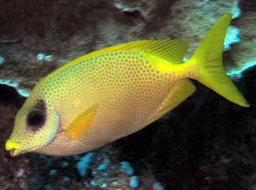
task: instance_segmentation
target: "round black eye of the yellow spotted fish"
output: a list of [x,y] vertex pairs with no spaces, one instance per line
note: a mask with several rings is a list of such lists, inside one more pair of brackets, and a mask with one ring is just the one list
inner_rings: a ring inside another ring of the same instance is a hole
[[33,111],[28,114],[27,124],[30,127],[37,128],[44,124],[44,114],[41,111]]

